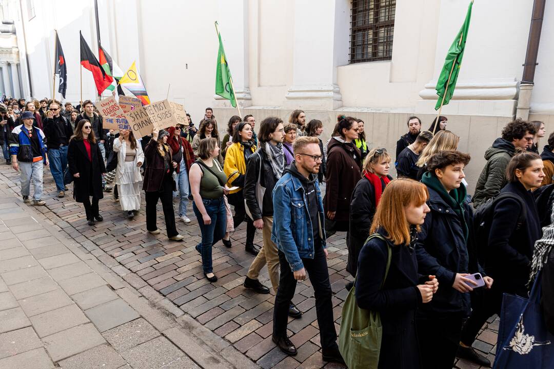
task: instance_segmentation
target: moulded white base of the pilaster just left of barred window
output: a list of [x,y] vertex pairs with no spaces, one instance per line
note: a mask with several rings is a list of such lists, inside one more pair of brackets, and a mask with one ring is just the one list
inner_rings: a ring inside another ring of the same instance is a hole
[[342,96],[336,84],[291,86],[283,106],[305,110],[336,110],[342,106]]

